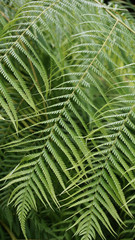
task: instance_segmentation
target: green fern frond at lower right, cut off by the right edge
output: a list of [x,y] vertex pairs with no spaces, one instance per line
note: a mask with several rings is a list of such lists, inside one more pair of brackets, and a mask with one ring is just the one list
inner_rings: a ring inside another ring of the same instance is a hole
[[71,185],[72,200],[67,204],[70,207],[82,205],[82,209],[79,207],[76,213],[79,218],[74,224],[75,226],[79,223],[77,233],[83,235],[82,239],[92,239],[95,230],[101,238],[104,238],[99,222],[113,233],[111,222],[105,212],[109,212],[112,218],[121,223],[115,204],[125,208],[127,214],[134,214],[128,209],[121,181],[125,179],[132,184],[133,189],[135,188],[132,167],[135,164],[134,90],[133,85],[127,86],[127,82],[124,82],[123,86],[119,83],[119,86],[122,91],[127,87],[131,91],[127,94],[126,90],[124,95],[111,100],[97,114],[95,123],[100,127],[93,129],[87,137],[91,151],[84,159],[85,163],[90,158],[93,168],[89,170],[86,163],[87,178],[82,173],[76,179],[79,187],[76,191]]

